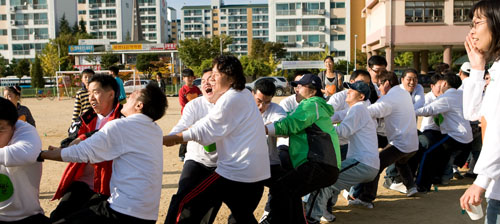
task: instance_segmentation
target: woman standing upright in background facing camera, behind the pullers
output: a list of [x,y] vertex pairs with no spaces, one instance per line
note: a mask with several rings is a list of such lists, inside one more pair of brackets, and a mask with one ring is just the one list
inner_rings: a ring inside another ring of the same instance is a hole
[[333,70],[335,62],[332,56],[326,56],[323,61],[325,62],[326,70],[318,74],[321,79],[321,92],[325,97],[330,97],[342,90],[344,76],[339,71]]

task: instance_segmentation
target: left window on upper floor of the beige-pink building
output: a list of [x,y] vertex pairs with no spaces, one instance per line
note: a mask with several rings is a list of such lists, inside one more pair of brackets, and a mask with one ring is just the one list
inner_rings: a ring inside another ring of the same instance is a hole
[[407,1],[406,23],[442,23],[444,1]]

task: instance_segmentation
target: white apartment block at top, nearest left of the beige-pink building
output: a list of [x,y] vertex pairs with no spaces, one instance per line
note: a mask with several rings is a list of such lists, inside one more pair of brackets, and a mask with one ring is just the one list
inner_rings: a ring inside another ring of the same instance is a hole
[[350,0],[269,0],[269,40],[291,56],[324,52],[351,60]]

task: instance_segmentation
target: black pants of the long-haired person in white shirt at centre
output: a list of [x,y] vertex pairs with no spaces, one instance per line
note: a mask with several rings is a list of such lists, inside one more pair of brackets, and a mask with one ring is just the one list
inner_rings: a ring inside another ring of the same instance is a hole
[[236,182],[213,173],[182,198],[175,223],[200,223],[207,207],[224,202],[236,223],[257,223],[253,212],[264,191],[262,181]]

